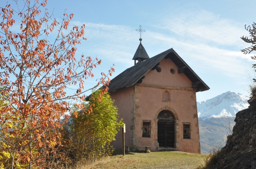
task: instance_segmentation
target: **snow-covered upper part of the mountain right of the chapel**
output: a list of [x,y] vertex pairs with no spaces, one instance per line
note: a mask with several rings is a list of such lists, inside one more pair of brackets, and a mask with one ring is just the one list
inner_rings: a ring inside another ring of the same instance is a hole
[[197,102],[198,117],[201,120],[234,117],[238,111],[248,108],[247,100],[249,97],[243,94],[227,91],[209,100]]

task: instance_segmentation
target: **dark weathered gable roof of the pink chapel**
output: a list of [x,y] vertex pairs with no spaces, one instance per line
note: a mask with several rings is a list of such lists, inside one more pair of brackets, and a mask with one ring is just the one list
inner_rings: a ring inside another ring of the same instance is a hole
[[137,81],[143,79],[143,76],[163,58],[170,58],[178,67],[178,71],[184,73],[191,80],[192,88],[196,88],[196,91],[204,91],[210,89],[187,65],[187,63],[171,48],[137,65],[134,65],[117,75],[110,81],[108,92],[111,93],[124,87],[133,86]]

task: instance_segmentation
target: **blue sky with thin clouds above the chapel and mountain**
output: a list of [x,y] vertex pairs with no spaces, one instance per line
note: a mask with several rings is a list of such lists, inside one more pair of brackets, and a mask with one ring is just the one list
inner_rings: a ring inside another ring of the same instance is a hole
[[[0,6],[6,2],[1,0]],[[87,80],[88,87],[112,64],[113,77],[134,65],[132,58],[140,43],[135,29],[142,25],[146,30],[142,44],[149,57],[173,48],[210,87],[197,93],[197,101],[229,90],[247,94],[246,71],[253,74],[251,65],[255,62],[240,51],[249,46],[240,37],[248,35],[245,24],[256,22],[254,6],[252,0],[47,2],[49,13],[53,11],[57,19],[67,9],[66,13],[74,14],[71,24],[86,25],[87,41],[77,46],[76,54],[102,60],[95,78]]]

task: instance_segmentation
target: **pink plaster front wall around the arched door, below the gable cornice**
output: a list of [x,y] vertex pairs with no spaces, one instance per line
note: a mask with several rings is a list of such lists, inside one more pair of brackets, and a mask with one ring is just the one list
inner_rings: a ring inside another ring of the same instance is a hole
[[[155,118],[161,108],[168,106],[176,112],[178,120],[180,120],[176,134],[177,142],[180,143],[180,147],[176,147],[177,150],[200,153],[195,91],[169,90],[171,102],[163,102],[164,89],[144,86],[137,86],[137,88],[140,90],[140,93],[136,93],[136,98],[139,98],[140,101],[136,103],[139,105],[139,109],[137,109],[136,112],[137,117],[135,118],[135,122],[138,124],[138,127],[135,125],[135,133],[137,134],[134,139],[136,140],[136,145],[151,146],[151,150],[156,150],[155,141],[157,128]],[[141,135],[141,123],[143,120],[151,120],[151,130],[153,131],[151,138],[143,138]],[[191,139],[182,139],[183,122],[190,123]]]

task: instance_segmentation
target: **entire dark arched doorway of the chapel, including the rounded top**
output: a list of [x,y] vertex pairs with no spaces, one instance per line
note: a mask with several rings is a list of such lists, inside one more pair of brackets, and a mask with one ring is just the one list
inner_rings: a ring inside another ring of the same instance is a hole
[[159,147],[174,147],[175,117],[173,113],[168,110],[162,110],[157,119],[157,142]]

